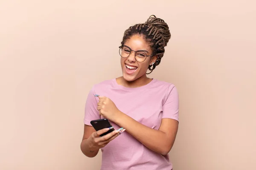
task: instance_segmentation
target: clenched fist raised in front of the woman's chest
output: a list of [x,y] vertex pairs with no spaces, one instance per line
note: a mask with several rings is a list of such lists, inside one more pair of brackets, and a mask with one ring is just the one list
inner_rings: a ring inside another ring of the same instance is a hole
[[117,115],[120,113],[114,102],[108,97],[99,96],[99,102],[97,105],[97,110],[99,111],[99,114],[112,122],[114,122],[114,118],[116,118]]

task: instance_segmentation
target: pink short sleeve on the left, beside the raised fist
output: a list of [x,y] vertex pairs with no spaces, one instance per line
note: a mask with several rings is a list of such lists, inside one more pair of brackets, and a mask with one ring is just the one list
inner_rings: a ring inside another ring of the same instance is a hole
[[97,110],[98,102],[94,94],[95,91],[94,88],[92,88],[89,91],[84,108],[84,124],[89,126],[91,126],[90,121],[100,119],[99,111]]

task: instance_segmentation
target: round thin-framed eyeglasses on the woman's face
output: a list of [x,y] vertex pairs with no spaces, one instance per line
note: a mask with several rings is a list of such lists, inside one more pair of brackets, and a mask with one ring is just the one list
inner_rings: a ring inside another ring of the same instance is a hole
[[[131,51],[134,51],[134,50],[131,50],[131,48],[129,48],[127,46],[121,45],[119,47],[119,54],[123,58],[129,57],[130,54],[131,54]],[[143,61],[145,61],[145,59],[147,57],[153,56],[153,54],[152,55],[147,55],[144,50],[138,50],[138,51],[134,51],[134,52],[135,52],[135,54],[134,54],[135,59],[136,59],[137,62],[143,62]]]

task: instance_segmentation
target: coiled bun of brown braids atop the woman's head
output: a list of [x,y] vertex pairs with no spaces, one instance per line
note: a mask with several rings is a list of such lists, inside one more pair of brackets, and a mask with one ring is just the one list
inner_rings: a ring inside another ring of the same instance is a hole
[[151,15],[148,20],[145,22],[145,24],[148,24],[150,26],[154,26],[157,28],[157,31],[162,35],[162,38],[164,40],[164,46],[167,45],[171,38],[171,33],[169,30],[169,27],[167,23],[164,22],[161,18],[157,18],[155,15]]

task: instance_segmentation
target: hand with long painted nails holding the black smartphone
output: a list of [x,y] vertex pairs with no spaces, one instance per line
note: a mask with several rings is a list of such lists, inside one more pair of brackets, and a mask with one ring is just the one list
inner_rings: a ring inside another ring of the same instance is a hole
[[110,130],[110,128],[104,128],[93,132],[89,137],[89,147],[93,150],[99,150],[100,148],[105,147],[109,142],[111,142],[113,139],[115,139],[117,136],[125,131],[125,129],[114,130],[111,133],[100,136],[101,134],[108,132],[108,130]]

